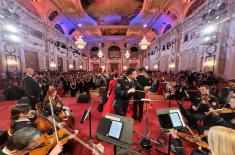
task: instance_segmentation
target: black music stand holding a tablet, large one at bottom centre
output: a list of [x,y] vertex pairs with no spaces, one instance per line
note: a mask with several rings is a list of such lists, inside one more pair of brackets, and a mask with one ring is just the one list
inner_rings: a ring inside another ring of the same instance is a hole
[[[119,139],[108,136],[112,121],[118,121],[123,124],[122,132]],[[129,149],[129,147],[131,146],[133,125],[134,125],[134,120],[131,118],[126,118],[124,116],[108,113],[105,117],[101,118],[99,125],[97,127],[96,137],[100,140],[104,140],[108,143],[113,144],[114,155],[116,155],[117,146],[124,149]]]

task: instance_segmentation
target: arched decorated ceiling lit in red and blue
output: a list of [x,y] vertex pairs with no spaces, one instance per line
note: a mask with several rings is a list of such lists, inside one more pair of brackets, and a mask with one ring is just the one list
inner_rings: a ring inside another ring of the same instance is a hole
[[193,13],[205,0],[16,0],[65,37],[89,43],[152,42]]

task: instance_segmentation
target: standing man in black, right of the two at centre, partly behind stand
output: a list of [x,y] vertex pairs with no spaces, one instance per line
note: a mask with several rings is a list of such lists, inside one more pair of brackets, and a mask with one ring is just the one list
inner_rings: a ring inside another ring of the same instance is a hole
[[[136,89],[143,91],[143,92],[135,92],[134,93],[134,103],[133,103],[133,110],[134,110],[134,114],[133,114],[133,118],[134,120],[137,120],[139,122],[141,122],[142,117],[143,117],[143,105],[144,102],[140,101],[142,98],[145,98],[145,92],[147,89],[150,89],[151,84],[149,82],[149,78],[145,72],[145,68],[139,68],[138,69],[139,74],[137,76],[137,80],[136,80]],[[139,109],[139,115],[137,114]]]

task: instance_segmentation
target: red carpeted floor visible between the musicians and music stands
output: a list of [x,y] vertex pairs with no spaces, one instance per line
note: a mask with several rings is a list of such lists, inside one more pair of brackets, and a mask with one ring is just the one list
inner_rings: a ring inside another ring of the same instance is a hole
[[[157,97],[155,96],[154,99],[157,99]],[[82,140],[87,142],[89,140],[89,121],[87,119],[84,124],[80,124],[80,120],[82,118],[84,110],[88,108],[89,104],[78,104],[76,102],[77,99],[75,97],[64,97],[62,98],[62,100],[64,104],[68,105],[72,109],[75,119],[76,119],[76,128],[81,129],[81,132],[79,133],[78,137],[80,137]],[[112,155],[113,145],[107,142],[99,141],[95,139],[96,128],[98,126],[99,120],[101,119],[101,113],[99,113],[96,110],[100,98],[92,97],[92,100],[94,101],[95,104],[91,111],[92,113],[92,136],[94,137],[94,139],[92,139],[91,141],[94,143],[101,142],[105,147],[105,154]],[[0,129],[1,130],[7,130],[9,128],[10,109],[14,105],[14,103],[12,103],[11,101],[0,101]],[[160,135],[160,127],[159,127],[159,121],[158,121],[157,114],[156,114],[156,109],[167,108],[168,100],[156,100],[156,101],[153,101],[151,104],[152,104],[152,108],[149,110],[149,129],[151,129],[150,138],[156,140]],[[171,107],[177,107],[177,103],[175,101],[172,101]],[[129,117],[131,116],[131,106],[128,112],[128,116]],[[145,113],[144,113],[144,118],[142,122],[134,123],[134,130],[140,133],[144,132],[144,124],[145,124],[144,119],[145,119]],[[133,142],[136,142],[137,140],[139,140],[139,138],[140,137],[136,133],[133,133]],[[195,145],[189,142],[186,142],[184,140],[182,140],[182,142],[183,142],[183,145],[185,147],[187,154],[190,154],[192,149],[195,148]],[[167,151],[167,146],[158,146],[156,144],[152,144],[152,145],[153,145],[153,148],[151,149],[151,152],[150,152],[151,155],[160,154],[156,151],[157,149],[163,150],[165,152]],[[141,152],[141,154],[143,155],[148,154],[146,150],[144,150],[139,145],[132,145],[130,149]],[[76,144],[73,149],[73,154],[74,155],[87,155],[87,154],[91,154],[91,152],[88,151],[85,147],[82,147],[80,144]]]

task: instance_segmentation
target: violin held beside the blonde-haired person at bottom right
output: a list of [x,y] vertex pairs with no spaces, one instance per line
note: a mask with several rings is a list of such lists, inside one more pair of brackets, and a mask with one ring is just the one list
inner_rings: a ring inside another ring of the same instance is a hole
[[191,143],[194,143],[194,144],[197,144],[198,146],[202,147],[202,148],[206,148],[207,150],[210,150],[209,149],[209,144],[202,141],[201,140],[201,137],[197,136],[196,138],[195,137],[192,137],[192,136],[189,136],[183,132],[177,132],[177,135]]

